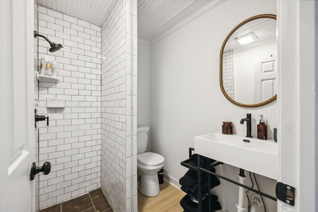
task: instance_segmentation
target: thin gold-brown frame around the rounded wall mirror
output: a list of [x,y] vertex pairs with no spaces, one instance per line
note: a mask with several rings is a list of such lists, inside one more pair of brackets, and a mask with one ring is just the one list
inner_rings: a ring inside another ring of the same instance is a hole
[[243,22],[239,23],[239,25],[237,25],[230,33],[229,35],[225,38],[223,44],[222,44],[222,48],[221,48],[221,52],[220,52],[220,86],[221,86],[221,90],[222,90],[222,93],[224,94],[224,96],[229,100],[231,101],[232,103],[236,104],[236,105],[239,105],[239,106],[242,106],[242,107],[259,107],[259,106],[263,106],[263,105],[266,105],[274,100],[276,100],[277,98],[277,94],[275,94],[275,96],[273,96],[272,98],[264,101],[264,102],[261,102],[261,103],[258,103],[258,104],[251,104],[251,105],[248,105],[248,104],[242,104],[242,103],[239,103],[239,102],[236,102],[234,101],[233,99],[230,98],[230,96],[228,96],[228,94],[226,93],[226,91],[224,90],[224,87],[223,87],[223,50],[224,50],[224,47],[226,45],[226,43],[228,42],[229,38],[231,37],[231,35],[237,30],[239,29],[239,27],[241,27],[243,24],[249,22],[249,21],[252,21],[252,20],[255,20],[255,19],[258,19],[258,18],[273,18],[276,20],[276,15],[273,15],[273,14],[262,14],[262,15],[255,15],[253,17],[250,17],[246,20],[244,20]]

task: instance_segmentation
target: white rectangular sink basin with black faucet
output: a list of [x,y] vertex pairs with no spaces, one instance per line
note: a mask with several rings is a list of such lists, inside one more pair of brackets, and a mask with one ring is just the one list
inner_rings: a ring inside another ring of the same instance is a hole
[[214,160],[275,180],[278,178],[278,144],[274,140],[211,133],[194,137],[194,150]]

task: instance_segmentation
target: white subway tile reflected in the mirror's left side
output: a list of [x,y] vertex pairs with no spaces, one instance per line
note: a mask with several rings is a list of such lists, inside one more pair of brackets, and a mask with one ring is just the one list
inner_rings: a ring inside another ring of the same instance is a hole
[[234,70],[233,50],[223,53],[223,87],[228,96],[235,100],[234,96]]

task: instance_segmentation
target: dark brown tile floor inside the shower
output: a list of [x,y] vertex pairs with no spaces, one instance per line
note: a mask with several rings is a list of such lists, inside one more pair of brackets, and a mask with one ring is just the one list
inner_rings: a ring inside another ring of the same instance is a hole
[[40,212],[113,212],[103,191],[96,189],[67,202],[51,206]]

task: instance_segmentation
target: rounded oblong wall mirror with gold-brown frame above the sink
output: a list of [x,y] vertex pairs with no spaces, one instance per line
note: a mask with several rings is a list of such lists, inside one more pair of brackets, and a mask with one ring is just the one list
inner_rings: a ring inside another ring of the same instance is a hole
[[258,107],[276,99],[276,15],[248,18],[223,42],[220,85],[236,105]]

